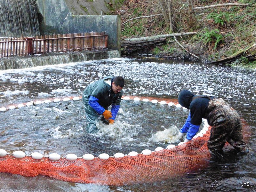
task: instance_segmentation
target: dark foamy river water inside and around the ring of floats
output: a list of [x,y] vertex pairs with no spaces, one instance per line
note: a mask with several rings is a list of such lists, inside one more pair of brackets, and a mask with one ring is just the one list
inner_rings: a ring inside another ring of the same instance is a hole
[[[254,152],[225,149],[209,165],[161,182],[102,186],[27,178],[0,173],[0,191],[255,191],[256,71],[207,63],[156,58],[116,58],[0,71],[0,107],[48,98],[81,96],[84,88],[104,76],[123,76],[124,95],[177,99],[188,89],[222,97],[243,119],[244,139]],[[99,124],[87,134],[82,102],[43,103],[1,112],[0,148],[12,153],[44,155],[74,153],[98,156],[154,151],[178,144],[176,135],[188,111],[168,105],[122,100],[116,123]]]

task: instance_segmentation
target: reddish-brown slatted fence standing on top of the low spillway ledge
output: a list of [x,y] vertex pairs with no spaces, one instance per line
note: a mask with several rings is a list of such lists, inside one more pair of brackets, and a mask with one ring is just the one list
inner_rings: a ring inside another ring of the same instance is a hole
[[74,52],[107,48],[106,32],[56,34],[0,39],[0,57],[28,56],[52,52]]

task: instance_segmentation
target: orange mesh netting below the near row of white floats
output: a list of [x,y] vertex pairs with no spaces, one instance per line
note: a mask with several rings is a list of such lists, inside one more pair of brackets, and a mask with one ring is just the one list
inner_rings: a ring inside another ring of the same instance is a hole
[[73,162],[61,158],[51,161],[31,157],[0,157],[0,172],[28,177],[45,175],[55,179],[102,185],[130,185],[168,179],[172,176],[193,172],[207,165],[210,152],[207,147],[209,131],[188,143],[171,149],[152,152],[150,155],[110,157],[107,160],[94,158],[86,161],[78,158]]

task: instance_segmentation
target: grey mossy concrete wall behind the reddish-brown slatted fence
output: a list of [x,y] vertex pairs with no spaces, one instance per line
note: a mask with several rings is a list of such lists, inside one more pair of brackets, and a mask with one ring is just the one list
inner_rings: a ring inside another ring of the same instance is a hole
[[[100,3],[101,2],[101,3]],[[104,6],[103,6],[104,2]],[[75,15],[78,7],[81,9],[87,6],[88,13],[98,6],[99,10],[107,10],[111,0],[100,1],[65,1],[65,0],[37,0],[37,12],[42,15],[42,22],[39,23],[40,34],[65,34],[65,33],[83,33],[83,32],[100,32],[106,31],[108,35],[108,48],[121,52],[120,16],[116,15]],[[83,4],[82,4],[83,3]],[[81,6],[80,6],[81,5]],[[105,8],[106,9],[105,9]],[[104,8],[104,9],[103,9]],[[76,12],[74,13],[74,9]],[[104,12],[105,12],[104,11]],[[101,12],[101,11],[100,11]],[[82,14],[82,12],[79,12]]]

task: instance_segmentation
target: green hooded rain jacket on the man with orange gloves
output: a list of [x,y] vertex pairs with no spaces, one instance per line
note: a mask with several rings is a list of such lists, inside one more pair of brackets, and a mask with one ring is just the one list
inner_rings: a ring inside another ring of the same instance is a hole
[[100,106],[107,109],[110,105],[120,105],[123,90],[114,93],[111,89],[114,77],[107,76],[90,84],[83,93],[84,105],[89,105],[89,98],[93,96],[98,100]]

